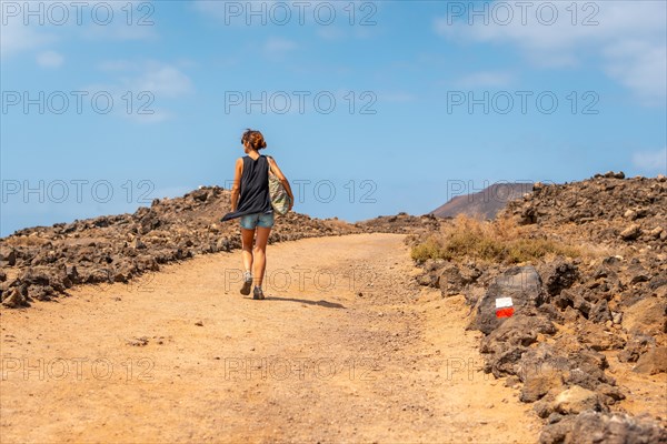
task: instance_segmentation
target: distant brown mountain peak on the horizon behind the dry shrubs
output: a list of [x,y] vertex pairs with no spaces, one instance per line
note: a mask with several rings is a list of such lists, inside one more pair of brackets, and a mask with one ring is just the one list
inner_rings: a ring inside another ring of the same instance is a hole
[[477,193],[457,195],[429,214],[455,218],[466,214],[478,219],[494,219],[507,202],[520,199],[532,191],[532,183],[496,183]]

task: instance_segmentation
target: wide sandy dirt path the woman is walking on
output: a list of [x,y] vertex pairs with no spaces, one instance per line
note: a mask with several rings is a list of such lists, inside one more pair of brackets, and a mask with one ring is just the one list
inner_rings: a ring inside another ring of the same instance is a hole
[[270,245],[266,301],[235,252],[2,311],[0,442],[535,442],[402,239]]

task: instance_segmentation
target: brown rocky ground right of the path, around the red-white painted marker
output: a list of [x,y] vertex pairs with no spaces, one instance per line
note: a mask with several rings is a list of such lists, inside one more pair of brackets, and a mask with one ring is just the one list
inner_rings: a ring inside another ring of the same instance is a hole
[[[545,421],[540,443],[666,443],[667,417],[624,412],[621,401],[638,393],[609,372],[643,375],[664,412],[666,380],[651,377],[667,372],[665,176],[536,183],[501,216],[583,254],[512,266],[429,260],[420,283],[466,295],[469,329],[485,334],[485,371],[520,387]],[[500,297],[511,297],[512,316],[497,316]]]

